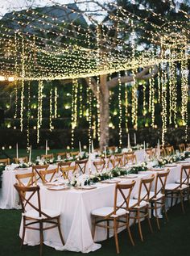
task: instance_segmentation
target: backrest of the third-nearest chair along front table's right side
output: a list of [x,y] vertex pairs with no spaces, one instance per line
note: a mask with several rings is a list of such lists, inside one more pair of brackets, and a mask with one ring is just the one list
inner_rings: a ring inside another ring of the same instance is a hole
[[158,172],[155,176],[155,195],[156,197],[159,193],[165,195],[165,187],[167,183],[167,176],[170,173],[170,170]]

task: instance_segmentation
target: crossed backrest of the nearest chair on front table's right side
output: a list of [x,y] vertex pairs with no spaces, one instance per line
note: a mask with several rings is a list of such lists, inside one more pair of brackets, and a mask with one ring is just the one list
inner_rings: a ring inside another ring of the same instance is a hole
[[[117,214],[117,211],[120,208],[126,208],[126,211],[128,211],[130,194],[134,188],[135,183],[136,182],[132,180],[130,183],[116,184],[115,193],[114,193],[114,212],[112,212],[112,214]],[[119,205],[118,205],[118,195],[122,196],[122,199],[119,199],[120,201]]]

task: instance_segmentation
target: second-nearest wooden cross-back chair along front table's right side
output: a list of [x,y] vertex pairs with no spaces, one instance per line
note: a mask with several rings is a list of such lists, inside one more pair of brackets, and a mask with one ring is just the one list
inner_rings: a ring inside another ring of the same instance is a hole
[[141,241],[143,241],[141,227],[142,218],[147,218],[151,233],[153,232],[149,216],[149,198],[154,178],[154,174],[152,174],[150,178],[142,178],[138,189],[138,195],[134,196],[134,199],[130,199],[129,210],[130,212],[134,212],[134,216],[130,216],[130,219],[134,219],[134,224],[138,221],[138,233]]

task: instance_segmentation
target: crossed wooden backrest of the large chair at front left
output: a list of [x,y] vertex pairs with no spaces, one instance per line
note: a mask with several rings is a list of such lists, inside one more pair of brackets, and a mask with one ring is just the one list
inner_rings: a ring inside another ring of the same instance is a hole
[[[23,187],[19,186],[18,184],[14,184],[15,189],[19,193],[19,199],[22,205],[22,211],[27,212],[27,206],[33,208],[36,212],[38,212],[39,217],[45,216],[46,218],[50,218],[45,212],[41,210],[41,202],[40,202],[40,195],[39,195],[39,186],[35,187]],[[28,192],[28,193],[27,193]],[[37,196],[37,199],[36,199]],[[36,204],[31,203],[31,200],[35,198]]]

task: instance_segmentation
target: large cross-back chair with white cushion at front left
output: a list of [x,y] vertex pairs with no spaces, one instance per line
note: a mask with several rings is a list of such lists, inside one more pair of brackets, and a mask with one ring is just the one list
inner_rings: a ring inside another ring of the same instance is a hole
[[[14,184],[14,187],[19,193],[19,199],[22,205],[23,212],[23,234],[21,248],[23,246],[26,229],[33,229],[39,231],[40,256],[42,255],[43,249],[43,231],[47,229],[58,228],[60,240],[64,246],[64,238],[60,229],[60,212],[56,212],[52,209],[41,208],[39,186],[23,187],[19,186],[18,184]],[[35,204],[33,203],[33,201],[35,202]],[[27,210],[28,208],[30,209]]]

